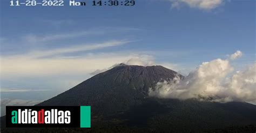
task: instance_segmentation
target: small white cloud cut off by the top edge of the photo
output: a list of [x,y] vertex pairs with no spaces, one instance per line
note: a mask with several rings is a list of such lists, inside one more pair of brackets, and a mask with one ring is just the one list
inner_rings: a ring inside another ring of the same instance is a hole
[[224,3],[224,0],[170,0],[172,8],[179,8],[180,4],[187,4],[191,8],[203,10],[215,9]]

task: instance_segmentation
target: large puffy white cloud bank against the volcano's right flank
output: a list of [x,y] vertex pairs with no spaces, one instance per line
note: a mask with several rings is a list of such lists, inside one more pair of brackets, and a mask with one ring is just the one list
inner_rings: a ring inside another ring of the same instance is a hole
[[[234,60],[241,54],[237,51],[230,59]],[[256,63],[232,75],[233,70],[230,60],[218,58],[204,62],[183,80],[177,76],[172,81],[157,83],[156,88],[150,88],[149,95],[215,102],[256,101]]]

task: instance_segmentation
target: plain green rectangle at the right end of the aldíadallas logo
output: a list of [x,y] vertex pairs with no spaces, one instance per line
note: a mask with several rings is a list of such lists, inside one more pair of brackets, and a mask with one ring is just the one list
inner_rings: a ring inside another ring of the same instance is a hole
[[91,128],[91,106],[80,106],[80,128]]

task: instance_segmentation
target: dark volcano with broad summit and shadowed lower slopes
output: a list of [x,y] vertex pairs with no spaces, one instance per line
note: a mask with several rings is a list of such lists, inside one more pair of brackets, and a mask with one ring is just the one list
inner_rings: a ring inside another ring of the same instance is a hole
[[36,106],[91,106],[92,128],[70,132],[256,131],[256,106],[246,102],[149,96],[149,88],[176,76],[183,79],[160,65],[119,64]]

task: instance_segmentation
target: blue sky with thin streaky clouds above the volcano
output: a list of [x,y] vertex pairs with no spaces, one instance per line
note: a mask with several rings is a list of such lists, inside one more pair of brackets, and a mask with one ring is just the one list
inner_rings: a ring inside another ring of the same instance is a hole
[[255,62],[253,0],[65,2],[52,8],[1,1],[2,98],[46,100],[130,58],[185,74],[237,50],[243,56],[236,67]]

